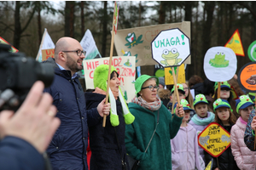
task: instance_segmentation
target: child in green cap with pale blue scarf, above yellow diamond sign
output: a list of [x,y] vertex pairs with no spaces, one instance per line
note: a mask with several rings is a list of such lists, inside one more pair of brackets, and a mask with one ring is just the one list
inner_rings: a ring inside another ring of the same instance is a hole
[[[211,122],[214,122],[214,113],[208,111],[208,101],[204,94],[197,94],[194,99],[194,108],[195,108],[195,115],[189,121],[197,134],[201,133]],[[206,158],[207,152],[205,152],[199,145],[200,155],[205,161],[206,165],[208,164],[208,160]],[[208,155],[207,155],[208,156]]]

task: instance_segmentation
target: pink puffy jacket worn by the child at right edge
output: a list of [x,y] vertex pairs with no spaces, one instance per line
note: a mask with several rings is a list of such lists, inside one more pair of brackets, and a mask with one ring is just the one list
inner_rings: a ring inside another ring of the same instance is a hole
[[244,143],[243,136],[246,126],[241,122],[241,117],[239,117],[236,124],[231,128],[231,150],[237,167],[241,170],[252,170],[255,169],[256,151],[249,150]]

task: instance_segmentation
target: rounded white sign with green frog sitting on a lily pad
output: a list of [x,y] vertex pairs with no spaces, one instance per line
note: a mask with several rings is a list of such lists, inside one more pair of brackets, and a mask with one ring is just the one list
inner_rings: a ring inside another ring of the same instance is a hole
[[236,74],[236,54],[230,48],[213,47],[207,50],[204,58],[204,71],[212,82],[230,80]]

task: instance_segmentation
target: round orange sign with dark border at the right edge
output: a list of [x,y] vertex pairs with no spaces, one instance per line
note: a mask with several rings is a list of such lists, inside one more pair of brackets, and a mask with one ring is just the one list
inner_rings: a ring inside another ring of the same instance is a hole
[[243,65],[237,75],[237,81],[241,88],[248,92],[256,92],[256,62]]

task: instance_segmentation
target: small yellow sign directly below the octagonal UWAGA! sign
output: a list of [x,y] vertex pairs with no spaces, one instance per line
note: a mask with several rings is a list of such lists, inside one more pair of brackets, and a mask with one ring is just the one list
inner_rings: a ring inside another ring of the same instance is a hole
[[[178,76],[177,76],[177,83],[185,83],[186,82],[186,77],[185,77],[184,64],[179,66],[178,73],[177,73],[177,67],[174,67],[174,71],[175,71],[175,75],[178,74]],[[165,68],[165,77],[166,77],[165,78],[166,85],[174,84],[171,67]]]

